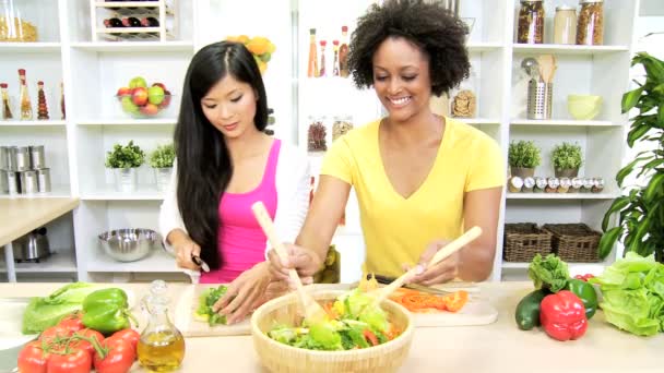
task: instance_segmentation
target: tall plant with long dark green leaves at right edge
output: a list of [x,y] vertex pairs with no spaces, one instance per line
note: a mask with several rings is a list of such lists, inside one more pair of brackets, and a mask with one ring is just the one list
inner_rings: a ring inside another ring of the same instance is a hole
[[[622,96],[622,113],[632,108],[639,113],[631,118],[627,144],[654,143],[652,149],[640,152],[618,171],[616,181],[626,195],[617,197],[602,221],[604,234],[600,240],[600,257],[606,257],[616,242],[625,245],[625,253],[641,256],[654,254],[664,262],[664,62],[648,55],[637,53],[632,65],[645,70],[645,82]],[[645,185],[624,186],[625,178],[649,178]],[[610,217],[618,214],[617,227],[608,228]]]

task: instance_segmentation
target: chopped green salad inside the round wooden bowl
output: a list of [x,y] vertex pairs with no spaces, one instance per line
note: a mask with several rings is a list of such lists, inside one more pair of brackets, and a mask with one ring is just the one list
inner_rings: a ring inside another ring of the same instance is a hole
[[340,296],[323,308],[330,316],[301,326],[276,325],[268,336],[278,342],[309,350],[353,350],[384,344],[401,334],[374,298],[358,289]]

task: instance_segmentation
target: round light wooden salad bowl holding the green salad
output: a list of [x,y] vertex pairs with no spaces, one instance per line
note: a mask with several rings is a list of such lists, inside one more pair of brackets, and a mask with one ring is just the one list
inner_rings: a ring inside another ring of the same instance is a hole
[[[312,293],[317,300],[334,300],[342,290]],[[400,304],[386,300],[381,304],[392,324],[403,333],[376,347],[348,351],[318,351],[296,348],[271,339],[266,333],[275,324],[299,325],[303,316],[297,296],[273,299],[251,316],[253,347],[261,363],[272,372],[394,372],[404,362],[413,340],[413,318]]]

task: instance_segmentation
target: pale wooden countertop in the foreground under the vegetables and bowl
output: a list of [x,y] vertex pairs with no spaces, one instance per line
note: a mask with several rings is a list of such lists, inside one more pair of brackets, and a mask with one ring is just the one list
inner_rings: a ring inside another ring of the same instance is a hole
[[[0,284],[1,297],[46,296],[61,284]],[[115,284],[142,297],[147,284]],[[188,285],[169,284],[173,297]],[[664,334],[638,337],[621,332],[598,311],[579,340],[560,342],[544,332],[519,330],[513,311],[531,282],[487,282],[482,294],[499,311],[483,326],[422,327],[400,372],[662,372]],[[173,316],[173,310],[170,310]],[[264,372],[251,336],[187,338],[180,372]],[[140,369],[137,371],[141,371]]]

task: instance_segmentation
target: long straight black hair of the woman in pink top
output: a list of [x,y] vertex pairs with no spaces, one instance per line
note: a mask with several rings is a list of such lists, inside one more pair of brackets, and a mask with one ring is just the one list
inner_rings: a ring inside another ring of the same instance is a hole
[[239,43],[221,41],[199,50],[189,64],[175,146],[178,160],[178,207],[189,237],[201,246],[201,258],[218,268],[218,206],[233,175],[223,134],[201,107],[201,99],[226,75],[249,84],[258,98],[253,123],[259,131],[268,124],[268,98],[258,64]]

